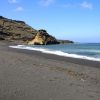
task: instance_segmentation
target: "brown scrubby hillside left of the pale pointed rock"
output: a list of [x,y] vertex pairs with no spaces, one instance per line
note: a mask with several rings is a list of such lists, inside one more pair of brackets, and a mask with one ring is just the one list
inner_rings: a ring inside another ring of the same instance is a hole
[[0,16],[0,40],[31,40],[37,30],[33,29],[23,21],[7,19]]

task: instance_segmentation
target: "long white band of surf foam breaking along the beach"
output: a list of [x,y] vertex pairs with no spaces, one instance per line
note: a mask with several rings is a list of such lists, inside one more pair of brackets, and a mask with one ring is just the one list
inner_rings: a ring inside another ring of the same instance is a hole
[[100,58],[82,56],[82,55],[77,55],[77,54],[69,54],[69,53],[65,53],[62,51],[56,51],[56,50],[52,51],[49,49],[43,49],[43,48],[38,48],[38,47],[30,47],[30,46],[25,46],[25,45],[17,45],[17,46],[9,46],[9,47],[17,48],[17,49],[27,49],[27,50],[40,51],[42,53],[54,54],[54,55],[64,56],[64,57],[87,59],[87,60],[91,60],[91,61],[100,61]]

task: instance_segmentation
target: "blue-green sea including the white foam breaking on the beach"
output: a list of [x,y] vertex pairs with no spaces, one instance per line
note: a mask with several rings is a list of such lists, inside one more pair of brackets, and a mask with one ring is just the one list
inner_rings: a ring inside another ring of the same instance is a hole
[[40,51],[64,57],[100,61],[100,43],[75,43],[59,45],[17,45],[12,48]]

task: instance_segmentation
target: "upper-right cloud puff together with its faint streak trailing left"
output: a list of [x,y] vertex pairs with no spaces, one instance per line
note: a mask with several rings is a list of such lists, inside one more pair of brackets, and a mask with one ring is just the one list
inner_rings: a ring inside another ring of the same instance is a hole
[[89,2],[81,2],[81,3],[68,3],[63,5],[65,8],[85,8],[85,9],[92,9],[93,4]]

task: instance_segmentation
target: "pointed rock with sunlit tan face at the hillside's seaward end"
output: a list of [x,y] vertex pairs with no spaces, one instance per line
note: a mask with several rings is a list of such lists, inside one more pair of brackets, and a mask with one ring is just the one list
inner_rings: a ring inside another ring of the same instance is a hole
[[59,44],[59,42],[51,35],[49,35],[46,30],[39,30],[35,38],[28,44],[34,45],[47,45],[47,44]]

